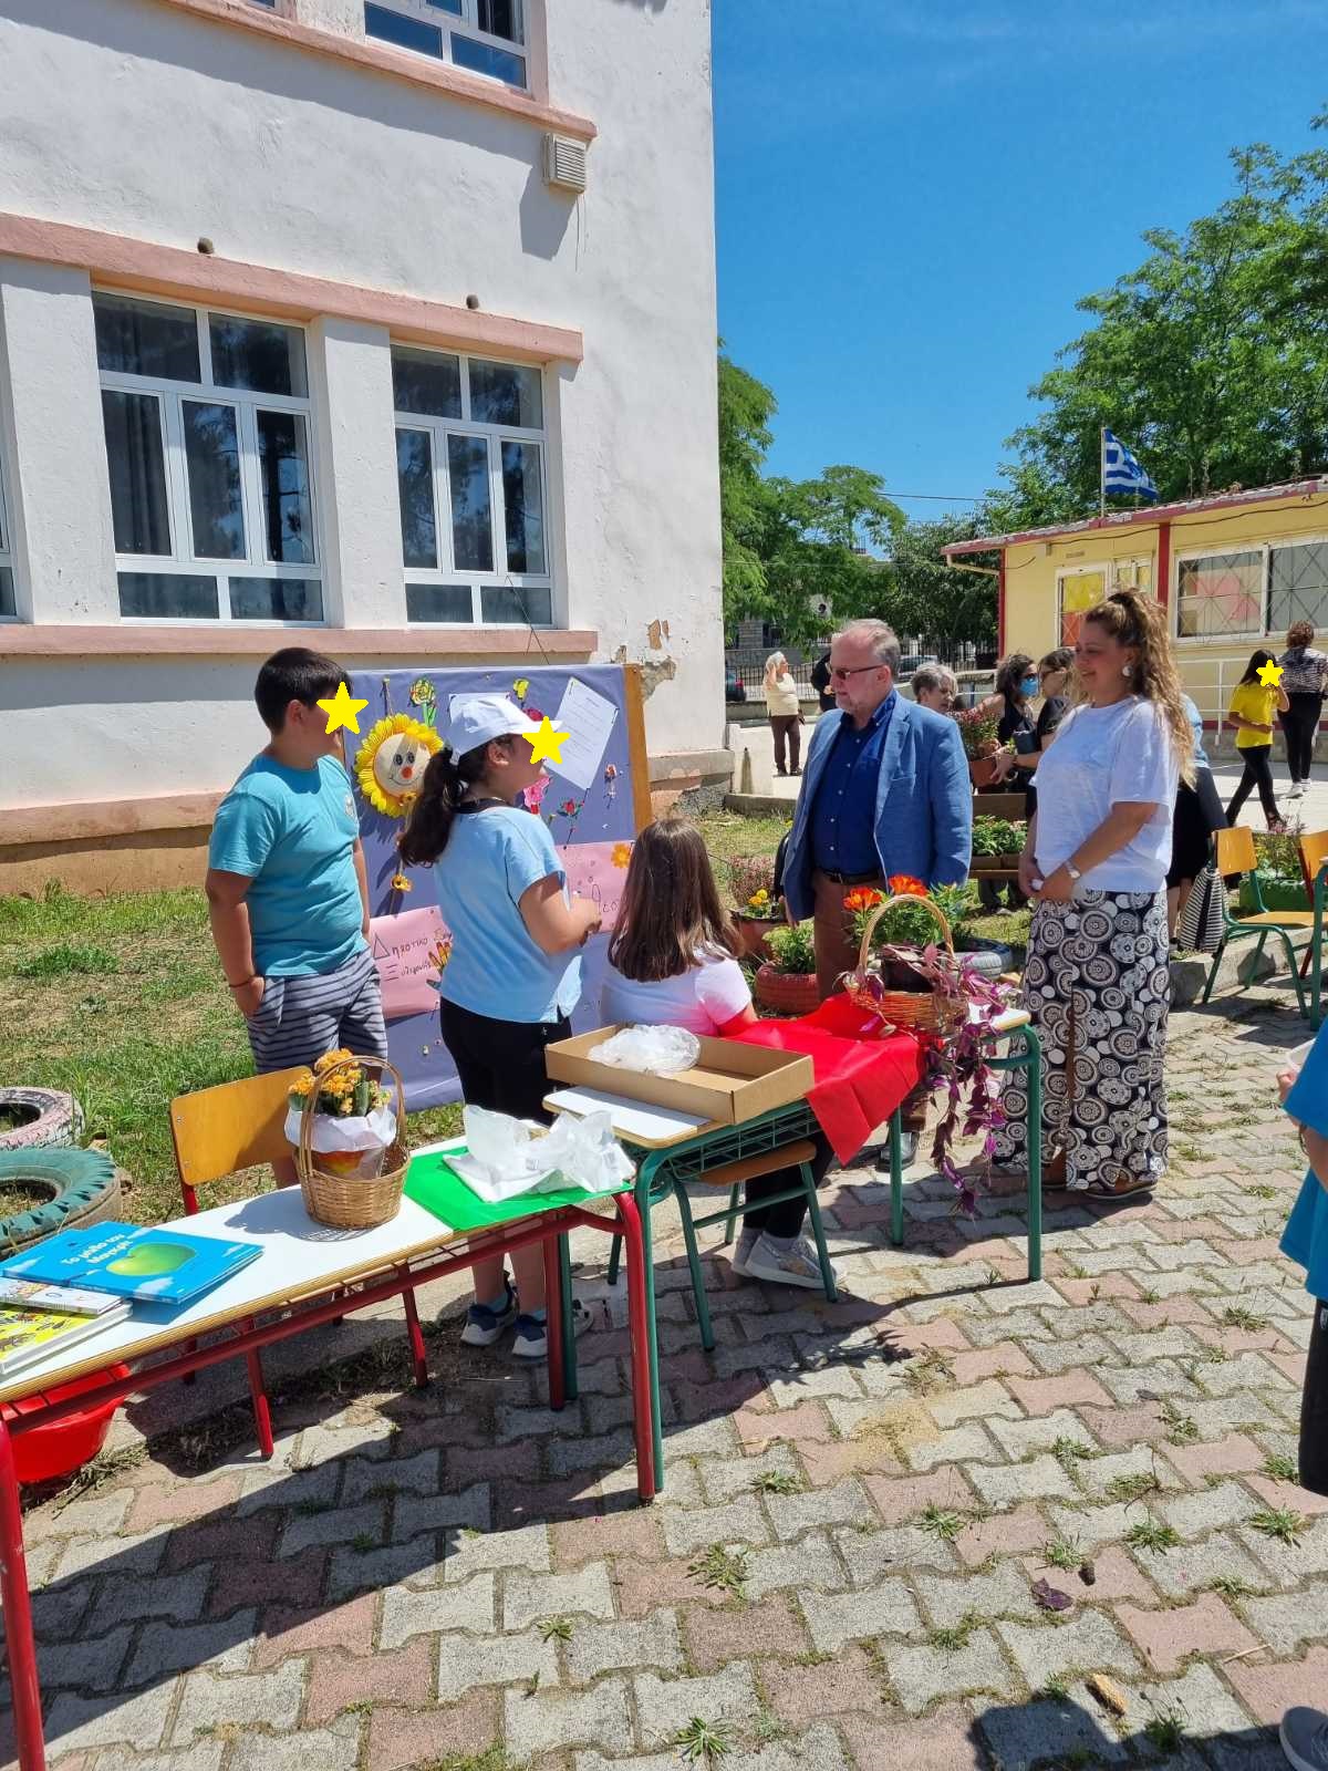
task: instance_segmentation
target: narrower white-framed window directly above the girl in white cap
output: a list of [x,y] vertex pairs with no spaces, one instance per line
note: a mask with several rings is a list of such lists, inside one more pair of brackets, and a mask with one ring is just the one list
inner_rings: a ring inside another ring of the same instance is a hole
[[411,622],[552,623],[540,370],[393,345]]

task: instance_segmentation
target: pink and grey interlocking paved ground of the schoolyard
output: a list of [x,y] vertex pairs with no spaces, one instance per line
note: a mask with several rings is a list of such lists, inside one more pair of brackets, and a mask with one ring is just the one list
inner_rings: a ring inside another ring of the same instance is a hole
[[[182,1475],[177,1435],[35,1507],[53,1766],[666,1771],[694,1718],[726,1771],[1280,1766],[1282,1707],[1328,1693],[1328,1502],[1287,1481],[1287,1001],[1174,1018],[1170,1176],[1121,1210],[1057,1195],[1038,1286],[1018,1194],[956,1222],[914,1171],[892,1250],[852,1171],[827,1188],[843,1300],[708,1259],[705,1355],[660,1215],[650,1509],[622,1298],[561,1417],[448,1323],[425,1394],[292,1383],[271,1465],[244,1442]],[[602,1247],[577,1249],[590,1296]]]

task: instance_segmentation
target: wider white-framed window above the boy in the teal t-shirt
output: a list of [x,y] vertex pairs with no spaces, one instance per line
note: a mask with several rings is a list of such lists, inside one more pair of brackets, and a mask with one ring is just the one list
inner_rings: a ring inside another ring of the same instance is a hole
[[94,292],[120,615],[320,622],[305,333]]

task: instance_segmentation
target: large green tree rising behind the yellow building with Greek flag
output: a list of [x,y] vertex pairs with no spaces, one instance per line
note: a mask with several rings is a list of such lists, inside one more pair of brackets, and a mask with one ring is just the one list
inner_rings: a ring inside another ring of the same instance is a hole
[[[1328,128],[1328,113],[1314,119]],[[1000,528],[1073,521],[1098,501],[1100,427],[1135,450],[1167,498],[1268,485],[1328,462],[1328,149],[1231,156],[1234,195],[1078,308],[1089,331],[1031,395],[992,492]]]

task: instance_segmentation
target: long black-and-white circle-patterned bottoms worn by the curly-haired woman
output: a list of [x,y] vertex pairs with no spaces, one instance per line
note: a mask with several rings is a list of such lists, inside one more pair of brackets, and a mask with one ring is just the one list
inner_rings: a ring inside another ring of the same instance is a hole
[[[1023,1006],[1043,1041],[1043,1149],[1066,1153],[1066,1185],[1110,1192],[1167,1167],[1167,898],[1089,891],[1032,912]],[[1027,1167],[1029,1094],[1006,1073],[995,1160]]]

